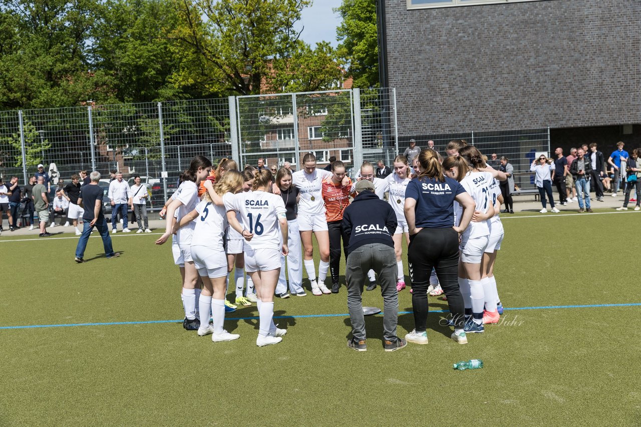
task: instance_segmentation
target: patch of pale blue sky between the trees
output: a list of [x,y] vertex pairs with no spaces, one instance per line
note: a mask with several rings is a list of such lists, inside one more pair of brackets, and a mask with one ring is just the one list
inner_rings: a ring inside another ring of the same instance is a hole
[[332,12],[332,8],[337,8],[340,3],[341,0],[314,0],[311,7],[303,9],[299,22],[304,26],[301,38],[312,47],[323,40],[336,47],[336,28],[340,17]]

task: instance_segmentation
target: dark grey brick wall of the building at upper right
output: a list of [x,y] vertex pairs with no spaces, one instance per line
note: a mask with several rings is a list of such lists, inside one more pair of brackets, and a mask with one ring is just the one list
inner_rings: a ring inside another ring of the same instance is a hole
[[641,123],[641,1],[385,1],[399,134]]

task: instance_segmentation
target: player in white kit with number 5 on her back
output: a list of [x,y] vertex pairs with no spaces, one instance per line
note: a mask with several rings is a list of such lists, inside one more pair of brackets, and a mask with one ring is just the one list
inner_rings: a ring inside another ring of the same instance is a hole
[[[232,341],[240,337],[238,334],[229,334],[222,327],[225,318],[228,273],[224,248],[227,214],[222,196],[240,191],[242,182],[242,173],[237,170],[229,170],[215,185],[212,181],[205,180],[206,191],[203,193],[201,202],[196,205],[196,209],[183,216],[174,228],[177,230],[196,222],[191,255],[194,266],[203,281],[203,291],[198,300],[200,313],[198,335],[202,337],[212,334],[213,342]],[[237,232],[242,232],[240,226]],[[212,313],[213,325],[209,324],[210,313]]]

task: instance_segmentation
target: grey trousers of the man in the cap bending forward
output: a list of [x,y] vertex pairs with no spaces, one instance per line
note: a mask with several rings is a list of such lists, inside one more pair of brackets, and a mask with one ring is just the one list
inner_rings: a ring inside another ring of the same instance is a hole
[[396,339],[399,297],[396,291],[396,255],[394,248],[382,243],[370,243],[354,249],[347,256],[345,280],[347,281],[347,309],[355,340],[365,339],[365,318],[361,294],[367,271],[376,271],[383,296],[383,338]]

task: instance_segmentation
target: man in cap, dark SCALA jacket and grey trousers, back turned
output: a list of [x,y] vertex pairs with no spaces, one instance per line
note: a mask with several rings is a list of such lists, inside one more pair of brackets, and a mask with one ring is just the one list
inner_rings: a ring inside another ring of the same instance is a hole
[[398,321],[398,292],[396,291],[396,255],[392,234],[396,229],[396,215],[387,202],[374,193],[374,184],[363,179],[356,182],[356,197],[345,208],[343,229],[349,239],[347,247],[347,308],[352,323],[353,337],[347,346],[357,351],[367,350],[365,319],[361,294],[367,271],[378,275],[383,295],[383,348],[394,351],[406,346],[396,336]]

